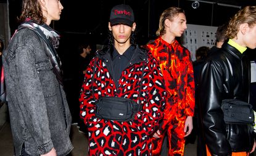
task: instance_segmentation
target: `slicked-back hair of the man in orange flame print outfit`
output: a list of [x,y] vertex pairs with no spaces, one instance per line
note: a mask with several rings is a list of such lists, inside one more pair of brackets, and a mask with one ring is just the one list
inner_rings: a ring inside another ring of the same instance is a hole
[[180,13],[185,14],[185,11],[180,7],[169,7],[168,9],[164,10],[159,19],[159,29],[155,34],[157,34],[157,36],[165,34],[165,20],[168,19],[172,21],[173,18]]

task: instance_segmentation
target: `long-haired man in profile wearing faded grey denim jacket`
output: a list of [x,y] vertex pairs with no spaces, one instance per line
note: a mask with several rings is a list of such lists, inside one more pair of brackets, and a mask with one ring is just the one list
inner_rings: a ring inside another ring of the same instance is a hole
[[3,53],[14,155],[67,155],[71,115],[54,48],[60,1],[23,0],[23,23]]

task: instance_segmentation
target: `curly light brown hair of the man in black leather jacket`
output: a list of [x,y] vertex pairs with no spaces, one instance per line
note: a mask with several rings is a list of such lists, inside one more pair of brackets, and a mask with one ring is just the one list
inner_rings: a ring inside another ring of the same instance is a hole
[[246,6],[239,10],[239,12],[237,12],[236,15],[229,20],[226,36],[229,39],[234,39],[237,37],[239,26],[243,23],[248,23],[250,28],[255,25],[256,6]]

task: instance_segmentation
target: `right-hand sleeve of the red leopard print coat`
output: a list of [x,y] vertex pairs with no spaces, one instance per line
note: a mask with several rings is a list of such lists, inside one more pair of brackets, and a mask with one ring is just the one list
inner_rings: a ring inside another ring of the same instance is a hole
[[157,61],[150,57],[146,63],[143,84],[146,90],[142,90],[142,111],[136,115],[134,120],[151,135],[158,127],[163,118],[163,107],[165,106],[166,92],[162,72]]

